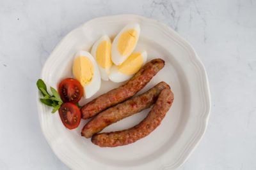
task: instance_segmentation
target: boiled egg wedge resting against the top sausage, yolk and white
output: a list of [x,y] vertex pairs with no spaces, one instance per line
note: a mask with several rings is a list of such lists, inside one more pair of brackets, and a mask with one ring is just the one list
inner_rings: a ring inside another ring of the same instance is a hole
[[109,79],[113,82],[129,80],[147,62],[147,52],[133,52],[120,66],[112,66]]

